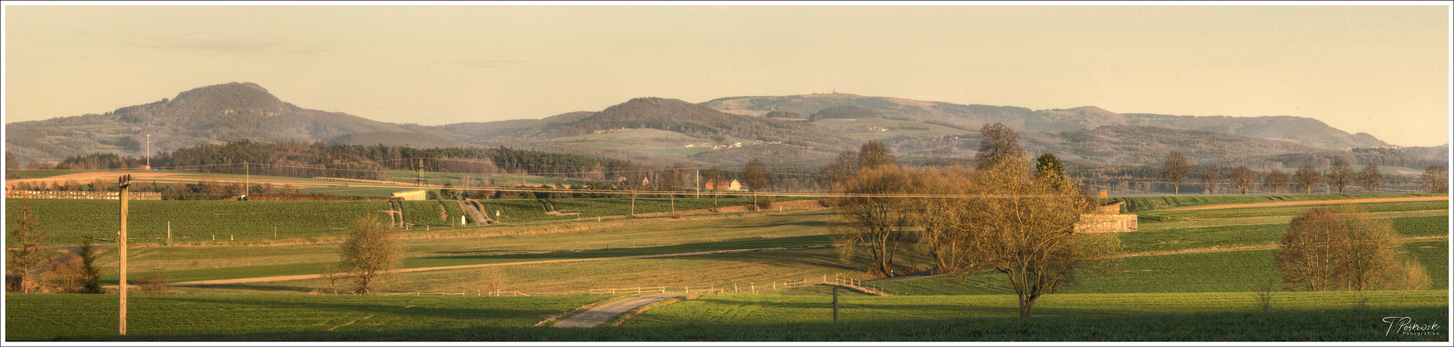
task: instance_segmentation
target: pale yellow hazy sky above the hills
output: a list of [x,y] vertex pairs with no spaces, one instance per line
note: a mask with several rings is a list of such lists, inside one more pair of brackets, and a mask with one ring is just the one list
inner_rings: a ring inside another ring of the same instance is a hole
[[1448,136],[1447,7],[7,7],[6,122],[252,81],[439,125],[814,91]]

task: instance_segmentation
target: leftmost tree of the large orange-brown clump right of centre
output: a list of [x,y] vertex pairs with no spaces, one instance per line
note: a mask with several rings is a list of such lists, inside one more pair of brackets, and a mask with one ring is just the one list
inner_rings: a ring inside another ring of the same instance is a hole
[[904,235],[904,199],[880,195],[904,193],[910,173],[899,166],[865,167],[843,181],[839,193],[855,195],[838,199],[838,229],[843,256],[851,257],[858,247],[868,248],[869,272],[894,276],[894,253]]

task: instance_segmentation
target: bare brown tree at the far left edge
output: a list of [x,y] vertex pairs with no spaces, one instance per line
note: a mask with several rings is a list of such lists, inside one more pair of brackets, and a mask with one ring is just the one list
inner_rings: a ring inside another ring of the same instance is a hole
[[41,218],[31,211],[29,199],[20,199],[20,208],[13,213],[15,222],[6,225],[9,231],[6,251],[10,253],[10,258],[4,263],[4,272],[7,277],[15,279],[6,279],[6,290],[29,293],[36,286],[35,274],[39,270],[36,266],[48,260],[41,242],[45,242],[49,232],[41,225]]

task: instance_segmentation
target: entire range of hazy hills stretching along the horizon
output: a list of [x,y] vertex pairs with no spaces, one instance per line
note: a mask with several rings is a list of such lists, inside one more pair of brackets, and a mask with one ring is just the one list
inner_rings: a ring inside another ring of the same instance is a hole
[[[765,116],[769,113],[774,116]],[[638,97],[601,112],[425,126],[298,107],[253,83],[199,87],[102,115],[7,123],[6,132],[9,150],[25,163],[90,152],[138,155],[145,134],[151,134],[153,151],[240,139],[417,148],[505,145],[644,163],[737,166],[753,157],[817,164],[868,139],[884,141],[903,155],[970,157],[977,148],[976,129],[986,122],[1022,131],[1027,148],[1102,164],[1153,164],[1173,150],[1194,161],[1232,163],[1387,145],[1367,134],[1296,116],[1169,116],[1095,106],[1031,110],[846,93],[704,103]]]

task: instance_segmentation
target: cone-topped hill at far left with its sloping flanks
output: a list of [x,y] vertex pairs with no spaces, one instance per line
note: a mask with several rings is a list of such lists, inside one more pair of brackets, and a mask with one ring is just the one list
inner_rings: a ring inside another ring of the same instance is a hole
[[174,99],[126,106],[102,115],[6,123],[7,148],[20,161],[116,152],[140,155],[145,134],[151,150],[254,141],[323,141],[355,132],[404,132],[342,112],[302,109],[253,83],[227,83],[182,91]]

